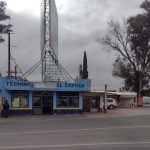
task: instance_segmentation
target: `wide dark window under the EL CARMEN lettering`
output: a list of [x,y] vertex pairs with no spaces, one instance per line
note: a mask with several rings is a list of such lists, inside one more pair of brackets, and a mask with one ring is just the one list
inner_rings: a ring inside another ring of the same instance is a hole
[[77,96],[59,96],[57,107],[79,107],[79,98]]

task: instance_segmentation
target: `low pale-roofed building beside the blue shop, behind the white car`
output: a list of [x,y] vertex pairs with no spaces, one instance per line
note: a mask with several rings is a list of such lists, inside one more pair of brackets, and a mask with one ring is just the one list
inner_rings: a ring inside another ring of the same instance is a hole
[[[90,91],[81,93],[83,96],[83,112],[101,112],[104,107],[104,91]],[[107,98],[116,100],[119,108],[137,107],[135,92],[107,92]]]

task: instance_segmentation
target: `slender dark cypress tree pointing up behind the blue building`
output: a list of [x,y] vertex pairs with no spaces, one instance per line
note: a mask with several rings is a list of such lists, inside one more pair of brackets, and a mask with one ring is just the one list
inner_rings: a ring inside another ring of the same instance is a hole
[[88,70],[87,70],[87,68],[88,68],[87,56],[86,56],[86,52],[84,51],[82,79],[88,79]]

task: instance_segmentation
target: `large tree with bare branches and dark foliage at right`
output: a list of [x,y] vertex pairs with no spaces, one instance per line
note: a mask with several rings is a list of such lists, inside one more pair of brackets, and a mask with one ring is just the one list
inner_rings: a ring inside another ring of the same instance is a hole
[[111,20],[108,34],[98,41],[117,52],[113,75],[123,78],[125,86],[136,91],[137,96],[150,79],[150,2],[145,0],[140,7],[144,13],[122,24]]

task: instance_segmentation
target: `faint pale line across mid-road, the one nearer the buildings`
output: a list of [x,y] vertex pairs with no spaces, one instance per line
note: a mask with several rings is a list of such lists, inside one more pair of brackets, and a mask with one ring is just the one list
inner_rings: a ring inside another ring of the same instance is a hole
[[68,130],[43,130],[43,131],[27,131],[27,132],[8,132],[0,133],[0,135],[17,135],[17,134],[44,134],[44,133],[59,133],[59,132],[77,132],[77,131],[96,131],[96,130],[112,130],[112,129],[132,129],[132,128],[150,128],[150,126],[118,126],[105,128],[84,128],[84,129],[68,129]]

